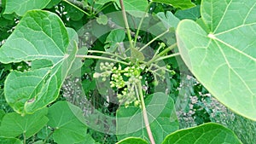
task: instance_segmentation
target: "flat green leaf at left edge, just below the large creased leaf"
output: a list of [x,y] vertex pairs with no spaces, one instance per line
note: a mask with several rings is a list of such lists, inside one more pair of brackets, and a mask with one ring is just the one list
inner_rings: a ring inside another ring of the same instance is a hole
[[7,113],[3,117],[0,126],[0,135],[5,137],[16,137],[26,135],[26,139],[35,135],[48,122],[47,108],[44,108],[31,115],[20,116],[16,112]]

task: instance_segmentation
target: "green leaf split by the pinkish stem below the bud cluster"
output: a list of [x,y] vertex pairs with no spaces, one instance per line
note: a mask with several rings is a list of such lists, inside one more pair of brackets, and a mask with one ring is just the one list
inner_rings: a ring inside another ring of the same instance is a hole
[[[163,93],[155,93],[146,98],[145,104],[155,142],[161,143],[166,135],[178,129],[172,98]],[[127,136],[148,140],[148,133],[143,123],[143,113],[139,107],[119,108],[117,111],[117,136],[119,140]]]

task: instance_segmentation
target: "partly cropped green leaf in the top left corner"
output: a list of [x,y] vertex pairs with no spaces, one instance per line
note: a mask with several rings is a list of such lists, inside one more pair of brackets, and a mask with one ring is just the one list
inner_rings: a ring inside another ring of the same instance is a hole
[[25,14],[28,10],[44,9],[50,0],[7,0],[3,14]]

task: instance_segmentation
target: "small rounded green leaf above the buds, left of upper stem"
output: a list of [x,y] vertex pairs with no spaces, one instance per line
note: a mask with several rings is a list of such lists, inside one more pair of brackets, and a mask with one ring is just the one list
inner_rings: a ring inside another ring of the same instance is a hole
[[124,30],[120,30],[120,29],[113,30],[108,34],[108,37],[105,42],[107,44],[104,46],[104,48],[106,49],[107,52],[113,53],[119,47],[119,43],[123,42],[124,39],[125,39]]

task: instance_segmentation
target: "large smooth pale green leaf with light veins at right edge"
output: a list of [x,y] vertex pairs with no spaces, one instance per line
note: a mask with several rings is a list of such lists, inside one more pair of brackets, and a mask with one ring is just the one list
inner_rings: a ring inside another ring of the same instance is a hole
[[178,49],[190,71],[218,101],[253,120],[256,120],[255,15],[255,1],[204,0],[203,28],[192,20],[183,20],[177,26]]

